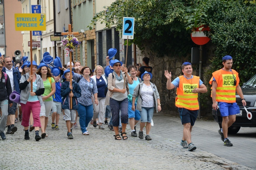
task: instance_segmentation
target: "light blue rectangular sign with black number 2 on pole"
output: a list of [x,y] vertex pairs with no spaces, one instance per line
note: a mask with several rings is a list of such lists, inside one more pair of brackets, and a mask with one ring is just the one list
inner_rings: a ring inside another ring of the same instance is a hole
[[123,39],[133,39],[134,35],[134,18],[133,17],[124,17],[123,18]]

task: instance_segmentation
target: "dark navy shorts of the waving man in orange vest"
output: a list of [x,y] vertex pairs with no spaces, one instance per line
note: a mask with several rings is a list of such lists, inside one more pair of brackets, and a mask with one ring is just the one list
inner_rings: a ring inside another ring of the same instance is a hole
[[181,123],[190,123],[191,126],[194,126],[195,121],[197,119],[198,110],[190,111],[186,108],[180,108],[178,109],[180,113]]

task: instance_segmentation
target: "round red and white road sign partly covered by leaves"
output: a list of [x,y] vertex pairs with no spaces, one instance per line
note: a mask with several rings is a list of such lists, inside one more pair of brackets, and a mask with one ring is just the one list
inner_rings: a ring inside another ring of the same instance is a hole
[[[199,28],[202,28],[201,31],[199,31]],[[210,31],[210,28],[207,25],[202,25],[198,28],[195,28],[193,32],[190,34],[192,41],[197,45],[204,45],[210,41],[211,38],[204,35],[203,31]]]

